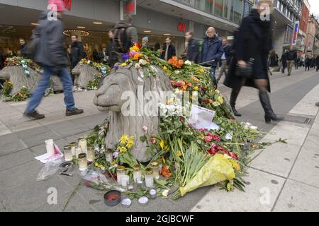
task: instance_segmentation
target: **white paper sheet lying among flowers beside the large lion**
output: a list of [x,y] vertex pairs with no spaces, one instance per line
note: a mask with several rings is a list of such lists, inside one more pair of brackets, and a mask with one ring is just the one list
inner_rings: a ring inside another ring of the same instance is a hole
[[219,126],[213,123],[215,113],[213,110],[192,105],[188,123],[195,129],[218,130]]

